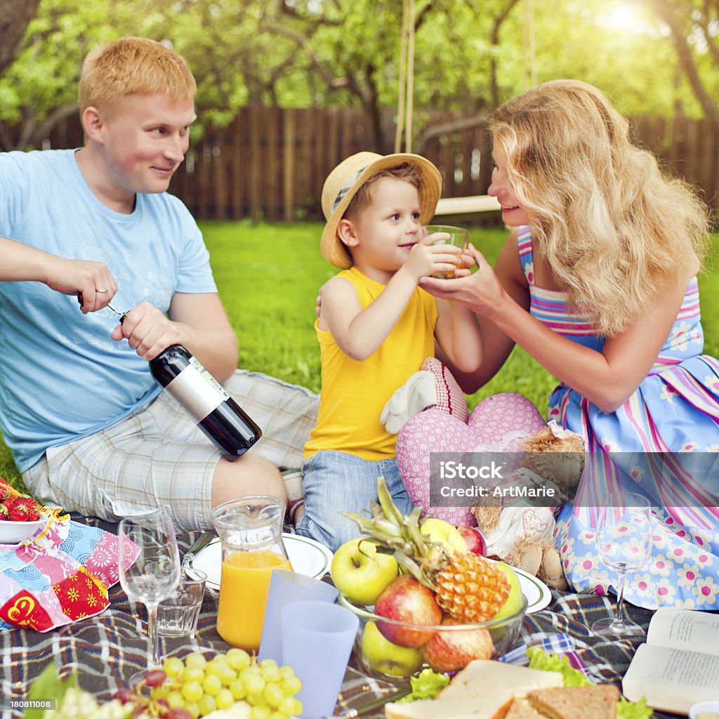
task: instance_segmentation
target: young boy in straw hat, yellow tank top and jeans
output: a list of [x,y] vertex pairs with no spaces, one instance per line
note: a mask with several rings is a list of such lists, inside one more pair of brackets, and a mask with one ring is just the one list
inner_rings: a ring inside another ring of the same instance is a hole
[[440,193],[434,165],[407,154],[359,152],[324,183],[321,251],[343,271],[324,286],[315,325],[322,391],[304,449],[297,531],[333,550],[357,536],[357,525],[341,513],[370,508],[377,475],[400,510],[412,509],[397,470],[396,436],[380,423],[393,392],[434,357],[435,342],[452,369],[474,372],[482,359],[475,314],[417,286],[459,265],[458,247],[423,236]]

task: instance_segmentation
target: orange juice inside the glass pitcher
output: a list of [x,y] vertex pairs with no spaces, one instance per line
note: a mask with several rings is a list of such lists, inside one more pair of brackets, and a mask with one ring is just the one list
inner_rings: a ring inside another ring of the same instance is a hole
[[258,651],[273,569],[292,570],[273,551],[236,551],[222,562],[217,632],[232,646]]

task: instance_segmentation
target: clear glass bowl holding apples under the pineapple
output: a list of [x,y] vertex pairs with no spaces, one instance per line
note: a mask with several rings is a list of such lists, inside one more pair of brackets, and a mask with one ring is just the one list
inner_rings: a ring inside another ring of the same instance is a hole
[[[340,593],[339,603],[359,617],[354,656],[370,676],[405,679],[423,667],[454,672],[472,659],[496,659],[516,645],[527,600],[518,597],[513,613],[473,624],[422,625],[385,619],[374,608],[352,603]],[[393,641],[390,641],[390,637]],[[413,646],[406,646],[411,644]],[[405,646],[402,646],[405,645]]]

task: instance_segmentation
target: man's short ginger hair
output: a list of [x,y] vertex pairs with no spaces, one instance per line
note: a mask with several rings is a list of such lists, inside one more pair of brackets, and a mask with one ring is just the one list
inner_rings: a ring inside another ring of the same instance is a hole
[[195,78],[175,50],[145,37],[120,37],[88,52],[80,73],[78,105],[82,114],[129,95],[162,93],[173,100],[193,98]]

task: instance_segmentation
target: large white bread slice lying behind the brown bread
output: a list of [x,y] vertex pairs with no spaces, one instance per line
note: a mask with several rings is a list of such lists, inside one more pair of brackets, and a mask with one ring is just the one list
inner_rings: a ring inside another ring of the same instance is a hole
[[562,687],[563,682],[559,672],[518,667],[516,664],[493,659],[475,659],[439,692],[438,698],[498,695],[526,697],[527,692],[546,687]]

